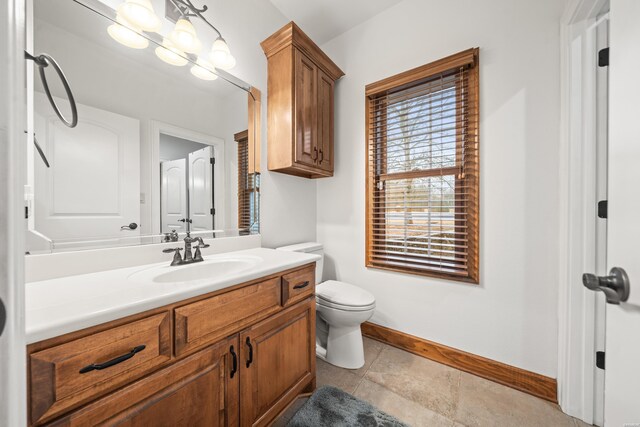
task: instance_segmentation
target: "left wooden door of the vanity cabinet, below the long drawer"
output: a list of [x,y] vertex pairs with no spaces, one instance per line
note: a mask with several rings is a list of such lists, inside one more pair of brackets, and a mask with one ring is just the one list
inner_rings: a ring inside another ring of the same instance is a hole
[[50,425],[237,426],[237,348],[235,335]]

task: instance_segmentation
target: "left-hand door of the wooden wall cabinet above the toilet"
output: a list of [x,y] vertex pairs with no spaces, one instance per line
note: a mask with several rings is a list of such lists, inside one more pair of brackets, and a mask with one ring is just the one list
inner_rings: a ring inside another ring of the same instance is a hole
[[316,146],[316,65],[295,50],[295,161],[314,166],[318,158]]

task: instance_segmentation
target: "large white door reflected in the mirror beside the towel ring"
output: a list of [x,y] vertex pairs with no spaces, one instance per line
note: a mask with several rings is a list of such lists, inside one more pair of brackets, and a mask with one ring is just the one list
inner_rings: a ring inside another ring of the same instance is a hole
[[140,225],[140,122],[78,104],[71,129],[44,94],[35,93],[34,107],[36,137],[51,164],[33,159],[36,231],[54,241],[140,234],[140,227],[122,228]]

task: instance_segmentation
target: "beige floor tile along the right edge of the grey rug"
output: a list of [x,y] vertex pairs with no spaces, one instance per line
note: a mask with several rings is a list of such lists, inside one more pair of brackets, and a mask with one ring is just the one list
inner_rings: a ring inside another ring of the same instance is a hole
[[367,379],[360,383],[355,396],[414,427],[454,426],[452,420]]

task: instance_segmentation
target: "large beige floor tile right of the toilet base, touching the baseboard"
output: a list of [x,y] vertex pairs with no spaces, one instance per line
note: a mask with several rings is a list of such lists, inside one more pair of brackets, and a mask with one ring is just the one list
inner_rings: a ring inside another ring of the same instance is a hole
[[445,417],[456,411],[460,371],[406,351],[385,346],[365,379]]

